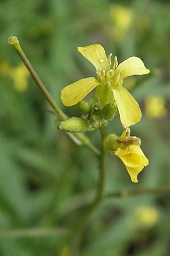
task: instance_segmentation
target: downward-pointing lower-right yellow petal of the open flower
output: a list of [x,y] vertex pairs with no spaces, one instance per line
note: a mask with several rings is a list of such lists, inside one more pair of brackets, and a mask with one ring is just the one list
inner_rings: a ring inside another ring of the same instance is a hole
[[121,123],[127,127],[135,125],[142,117],[138,102],[131,96],[128,90],[122,86],[118,86],[116,89],[112,90],[117,103]]

